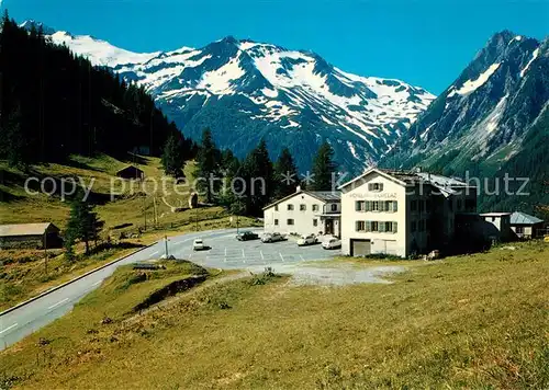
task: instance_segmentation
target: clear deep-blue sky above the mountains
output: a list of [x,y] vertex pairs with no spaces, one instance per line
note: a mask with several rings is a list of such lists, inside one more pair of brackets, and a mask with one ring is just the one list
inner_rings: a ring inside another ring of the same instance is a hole
[[2,8],[20,22],[35,19],[133,51],[201,47],[226,35],[310,49],[346,71],[433,93],[494,32],[549,33],[547,0],[3,0]]

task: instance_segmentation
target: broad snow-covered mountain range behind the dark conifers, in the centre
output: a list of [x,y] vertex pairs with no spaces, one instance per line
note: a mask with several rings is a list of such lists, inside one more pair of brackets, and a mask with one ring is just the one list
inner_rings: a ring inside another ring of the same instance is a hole
[[94,65],[150,92],[183,133],[243,157],[265,138],[288,146],[302,170],[327,139],[336,161],[359,171],[380,159],[435,96],[399,80],[360,77],[317,54],[225,37],[202,48],[136,54],[91,36],[51,34]]

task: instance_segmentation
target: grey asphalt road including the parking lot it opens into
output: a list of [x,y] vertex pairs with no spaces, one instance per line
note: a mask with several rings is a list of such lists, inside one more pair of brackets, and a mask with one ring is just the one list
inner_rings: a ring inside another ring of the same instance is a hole
[[[249,229],[260,233],[262,229]],[[262,243],[259,240],[237,241],[236,229],[203,231],[172,237],[168,240],[168,253],[197,264],[216,268],[254,268],[258,266],[285,266],[303,261],[325,260],[340,253],[326,251],[320,244],[300,248],[293,240]],[[192,242],[201,238],[210,250],[193,252]],[[124,264],[165,254],[164,241],[137,252],[115,264],[92,273],[60,289],[47,294],[25,306],[0,317],[0,349],[18,342],[55,319],[64,316],[76,302],[96,289],[114,269]]]

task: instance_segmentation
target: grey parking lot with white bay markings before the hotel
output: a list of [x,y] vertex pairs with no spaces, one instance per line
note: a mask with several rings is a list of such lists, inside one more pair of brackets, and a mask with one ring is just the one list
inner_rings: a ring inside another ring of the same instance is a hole
[[[254,230],[261,234],[262,230]],[[217,268],[250,268],[258,265],[281,265],[339,255],[340,250],[324,250],[321,244],[298,246],[295,239],[262,243],[260,240],[238,241],[235,232],[201,237],[209,250],[193,251],[192,239],[169,242],[169,253],[197,264]]]

